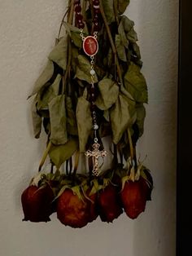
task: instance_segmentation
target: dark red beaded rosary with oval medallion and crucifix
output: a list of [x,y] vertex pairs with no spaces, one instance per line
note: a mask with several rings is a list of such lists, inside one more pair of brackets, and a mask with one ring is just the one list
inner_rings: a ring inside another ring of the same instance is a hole
[[94,143],[92,145],[93,151],[88,150],[85,152],[86,157],[92,157],[94,168],[92,170],[92,173],[95,176],[98,176],[100,173],[99,166],[98,166],[98,158],[99,157],[106,157],[107,151],[106,150],[99,150],[100,144],[98,143],[98,137],[97,137],[97,130],[98,130],[98,123],[97,123],[97,115],[96,115],[96,108],[95,108],[95,86],[94,86],[94,55],[98,53],[98,14],[100,12],[99,9],[99,0],[93,0],[93,6],[94,6],[94,19],[93,19],[93,30],[94,35],[85,37],[83,34],[83,29],[85,27],[84,21],[83,21],[83,15],[81,15],[81,0],[75,0],[74,2],[74,9],[76,12],[75,22],[76,27],[80,29],[80,35],[83,42],[83,50],[86,55],[90,57],[90,76],[91,76],[91,100],[90,100],[90,110],[92,113],[93,118],[93,130],[94,130]]

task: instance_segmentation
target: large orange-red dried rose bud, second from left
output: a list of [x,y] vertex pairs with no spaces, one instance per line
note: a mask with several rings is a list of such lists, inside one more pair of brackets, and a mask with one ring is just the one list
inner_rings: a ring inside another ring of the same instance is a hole
[[66,226],[84,227],[89,222],[89,202],[77,196],[72,189],[65,189],[57,202],[57,218]]

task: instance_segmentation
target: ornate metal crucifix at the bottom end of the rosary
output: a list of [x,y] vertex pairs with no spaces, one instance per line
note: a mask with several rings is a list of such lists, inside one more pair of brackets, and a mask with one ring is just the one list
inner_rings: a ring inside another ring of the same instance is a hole
[[92,170],[92,173],[95,176],[98,176],[99,174],[99,166],[98,166],[98,158],[99,157],[106,157],[107,156],[107,151],[106,150],[102,150],[100,151],[100,144],[99,143],[94,143],[92,145],[92,148],[94,148],[93,151],[88,150],[87,152],[85,152],[85,156],[86,157],[92,157],[93,159],[93,163],[94,163],[94,169]]

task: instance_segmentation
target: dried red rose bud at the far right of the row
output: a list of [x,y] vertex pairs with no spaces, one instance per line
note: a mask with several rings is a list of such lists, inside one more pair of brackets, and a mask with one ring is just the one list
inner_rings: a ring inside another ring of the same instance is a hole
[[146,180],[140,177],[137,181],[127,181],[120,192],[125,213],[129,218],[137,218],[146,208],[146,196],[148,192]]

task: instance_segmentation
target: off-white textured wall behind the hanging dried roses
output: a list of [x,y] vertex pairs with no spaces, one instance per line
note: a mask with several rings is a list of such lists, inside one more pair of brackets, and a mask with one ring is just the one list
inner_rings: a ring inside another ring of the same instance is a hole
[[178,0],[132,0],[149,87],[145,134],[138,153],[146,158],[155,188],[146,212],[132,221],[99,218],[82,229],[23,223],[20,194],[37,171],[45,137],[33,139],[30,102],[46,55],[54,45],[63,0],[0,0],[0,255],[174,256]]

